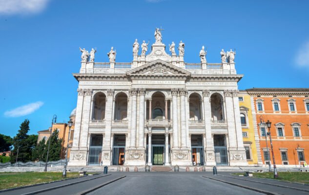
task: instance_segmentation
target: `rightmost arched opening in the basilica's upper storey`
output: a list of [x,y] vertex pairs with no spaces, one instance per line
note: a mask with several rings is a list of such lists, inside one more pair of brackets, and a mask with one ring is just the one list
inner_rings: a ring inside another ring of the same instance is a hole
[[218,93],[211,95],[211,118],[213,121],[224,120],[222,96]]

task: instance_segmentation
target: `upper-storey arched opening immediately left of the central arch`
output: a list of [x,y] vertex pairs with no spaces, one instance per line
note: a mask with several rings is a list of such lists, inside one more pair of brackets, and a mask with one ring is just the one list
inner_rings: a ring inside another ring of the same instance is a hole
[[127,120],[128,101],[125,93],[118,93],[115,97],[114,120]]

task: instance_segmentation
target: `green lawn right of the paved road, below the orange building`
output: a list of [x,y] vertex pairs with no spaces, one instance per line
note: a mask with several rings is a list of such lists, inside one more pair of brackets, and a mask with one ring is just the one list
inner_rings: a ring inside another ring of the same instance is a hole
[[[237,173],[233,175],[244,175],[244,174]],[[259,178],[274,179],[273,172],[253,173],[253,176]],[[278,176],[279,178],[276,180],[309,184],[309,172],[278,172]]]

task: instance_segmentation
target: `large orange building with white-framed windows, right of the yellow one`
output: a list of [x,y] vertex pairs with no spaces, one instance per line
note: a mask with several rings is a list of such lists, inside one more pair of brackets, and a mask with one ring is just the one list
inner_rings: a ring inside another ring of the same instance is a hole
[[247,89],[255,105],[256,122],[264,164],[271,159],[268,129],[260,118],[271,122],[275,162],[278,166],[297,166],[309,162],[309,88],[252,88]]

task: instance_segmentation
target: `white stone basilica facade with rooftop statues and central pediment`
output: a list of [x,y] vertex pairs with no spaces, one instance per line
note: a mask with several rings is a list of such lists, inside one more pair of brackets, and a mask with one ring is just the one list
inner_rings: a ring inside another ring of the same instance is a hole
[[159,29],[155,39],[141,52],[136,40],[128,63],[115,62],[113,48],[109,62],[81,49],[68,165],[246,166],[235,52],[208,63],[203,46],[201,63],[186,63],[185,43],[177,55]]

